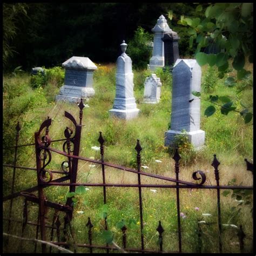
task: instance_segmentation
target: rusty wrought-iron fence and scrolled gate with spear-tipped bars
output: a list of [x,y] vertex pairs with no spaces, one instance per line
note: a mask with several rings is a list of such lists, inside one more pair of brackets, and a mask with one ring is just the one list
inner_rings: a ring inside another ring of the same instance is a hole
[[[79,111],[79,124],[76,122],[76,119],[70,114],[69,112],[65,111],[65,117],[68,118],[73,125],[75,126],[75,131],[71,127],[66,127],[64,131],[65,139],[58,139],[58,140],[51,140],[51,137],[49,135],[49,127],[52,123],[52,120],[50,117],[46,119],[40,126],[38,132],[35,132],[35,143],[33,144],[26,144],[26,145],[18,145],[19,140],[19,131],[21,130],[21,127],[19,125],[19,122],[16,126],[16,144],[13,147],[15,149],[15,155],[14,155],[14,164],[3,164],[5,167],[10,167],[13,169],[12,173],[12,184],[11,184],[11,194],[9,196],[5,196],[3,198],[3,201],[10,200],[10,207],[9,207],[9,218],[4,218],[8,221],[8,233],[10,231],[10,223],[11,221],[16,221],[22,223],[22,237],[25,231],[26,225],[34,225],[36,226],[36,239],[38,238],[38,233],[40,230],[41,233],[41,240],[46,241],[46,228],[51,229],[50,233],[50,240],[51,244],[55,244],[58,246],[63,246],[65,248],[69,248],[69,244],[66,241],[60,241],[60,231],[63,230],[64,234],[68,232],[68,228],[70,228],[70,221],[73,218],[73,205],[72,205],[72,198],[69,197],[66,200],[65,205],[54,203],[51,201],[48,201],[46,199],[44,188],[49,186],[69,186],[69,192],[75,192],[76,186],[95,186],[95,187],[103,187],[103,201],[104,204],[107,203],[107,194],[106,194],[106,187],[137,187],[138,188],[138,199],[139,199],[139,215],[140,215],[140,248],[127,248],[126,247],[126,226],[123,226],[121,228],[122,230],[122,241],[123,245],[122,248],[127,252],[141,252],[141,253],[161,253],[166,252],[163,248],[163,232],[164,228],[161,225],[161,221],[159,220],[159,225],[156,228],[158,232],[158,245],[159,249],[154,251],[145,248],[144,244],[144,234],[143,234],[143,204],[142,204],[142,188],[143,187],[151,187],[151,188],[174,188],[176,190],[176,203],[177,203],[177,227],[178,227],[178,250],[176,252],[183,252],[182,250],[182,242],[181,242],[181,224],[180,224],[180,198],[179,198],[179,191],[183,188],[197,188],[197,189],[213,189],[217,191],[217,214],[218,214],[218,231],[219,231],[219,252],[223,252],[223,242],[221,240],[221,208],[220,208],[220,190],[227,189],[227,190],[235,190],[235,189],[241,189],[241,190],[253,190],[253,186],[223,186],[220,185],[219,182],[219,161],[214,154],[214,158],[212,161],[212,166],[214,168],[214,174],[215,174],[215,180],[216,185],[204,185],[206,181],[206,175],[203,171],[196,171],[193,172],[192,178],[196,181],[200,180],[200,183],[191,183],[188,181],[180,180],[179,179],[179,160],[181,159],[178,153],[178,150],[176,149],[176,152],[174,153],[173,159],[175,161],[175,173],[176,178],[170,178],[170,177],[163,177],[159,176],[157,174],[147,173],[140,170],[141,167],[141,161],[140,161],[140,151],[142,151],[142,147],[140,146],[139,140],[137,140],[137,145],[135,147],[135,150],[137,151],[137,170],[127,168],[124,166],[115,165],[112,163],[107,163],[104,161],[104,138],[102,136],[102,132],[99,132],[99,139],[98,142],[100,144],[100,160],[94,160],[91,158],[85,158],[82,156],[79,156],[79,148],[80,148],[80,138],[81,138],[81,131],[82,131],[82,119],[83,119],[83,108],[84,103],[83,99],[80,100],[80,103],[78,104],[78,107],[80,109]],[[62,142],[63,144],[63,151],[54,149],[51,147],[52,142]],[[36,168],[31,167],[25,167],[25,166],[18,166],[17,165],[17,149],[18,147],[22,146],[35,146],[35,152],[36,152]],[[60,154],[62,156],[65,156],[67,158],[66,161],[63,161],[61,165],[61,171],[53,171],[46,169],[46,166],[48,166],[52,159],[51,152],[55,152],[57,154]],[[102,166],[102,183],[77,183],[77,169],[78,169],[78,160],[81,161],[88,161],[94,164],[99,164]],[[251,171],[253,173],[253,164],[250,163],[247,159],[245,159],[247,170]],[[119,169],[126,172],[131,173],[137,173],[138,175],[138,183],[137,184],[109,184],[105,181],[105,166],[113,167],[114,169]],[[14,184],[15,184],[15,172],[16,169],[25,169],[25,170],[35,170],[37,173],[37,186],[27,188],[26,190],[14,192]],[[55,173],[63,174],[63,177],[53,179],[53,175]],[[171,181],[174,184],[142,184],[140,177],[141,176],[147,176],[152,177],[159,180],[166,180]],[[69,183],[64,183],[64,181],[69,181]],[[32,192],[38,191],[38,196],[33,194]],[[13,206],[13,199],[16,197],[22,196],[24,197],[24,207],[23,207],[23,220],[16,220],[12,218],[12,206]],[[28,220],[28,202],[31,201],[32,203],[38,204],[38,221],[37,223],[32,223]],[[55,213],[53,215],[52,219],[52,225],[47,225],[45,223],[46,213],[48,208],[53,208],[55,210]],[[59,220],[59,213],[63,212],[65,214],[64,218],[64,227],[60,228],[60,220]],[[107,217],[105,217],[105,230],[107,230]],[[92,244],[92,227],[93,224],[91,223],[90,217],[88,217],[88,221],[86,224],[88,228],[88,241],[87,244],[76,244],[77,247],[87,247],[90,249],[90,253],[93,252],[93,248],[99,248],[102,250],[105,250],[107,253],[110,252],[110,250],[118,250],[116,246],[112,246],[111,244],[105,244],[105,245],[96,245]],[[52,241],[53,239],[53,232],[56,231],[57,234],[57,241]],[[198,238],[200,243],[200,237],[201,237],[201,228],[200,225],[198,225]],[[244,231],[242,230],[242,226],[240,226],[238,231],[238,239],[240,244],[240,251],[241,253],[244,250]],[[35,252],[37,248],[37,242],[35,242]],[[200,248],[200,246],[199,246]],[[120,249],[120,248],[119,248]],[[46,253],[46,244],[42,244],[42,252]],[[51,252],[51,247],[50,247]],[[171,253],[173,253],[172,251]],[[199,251],[200,252],[200,251]]]

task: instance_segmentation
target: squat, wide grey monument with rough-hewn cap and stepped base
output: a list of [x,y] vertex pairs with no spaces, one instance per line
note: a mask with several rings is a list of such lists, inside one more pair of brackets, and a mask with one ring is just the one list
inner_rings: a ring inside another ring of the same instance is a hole
[[64,85],[56,100],[77,102],[81,98],[89,99],[95,95],[93,89],[93,71],[97,66],[87,57],[73,56],[62,63],[65,68]]

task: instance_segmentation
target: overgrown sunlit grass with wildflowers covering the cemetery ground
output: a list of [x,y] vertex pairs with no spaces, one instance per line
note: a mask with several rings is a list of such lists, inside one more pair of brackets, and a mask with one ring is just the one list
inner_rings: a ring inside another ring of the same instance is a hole
[[[247,66],[252,70],[252,66]],[[142,165],[149,167],[145,172],[159,174],[166,177],[175,177],[174,161],[170,149],[164,146],[164,133],[169,130],[171,114],[171,90],[172,77],[169,72],[157,70],[163,86],[161,87],[161,100],[159,104],[143,104],[144,81],[149,75],[148,71],[134,72],[134,96],[137,107],[140,109],[138,118],[129,121],[109,118],[109,112],[115,96],[115,73],[116,65],[98,64],[98,70],[94,73],[95,97],[85,102],[89,107],[83,111],[83,130],[80,146],[80,155],[100,159],[99,151],[92,149],[99,146],[99,131],[102,131],[105,139],[105,161],[136,168],[137,139],[143,147]],[[206,132],[205,147],[199,151],[193,150],[191,145],[180,145],[180,179],[193,181],[192,173],[202,170],[206,174],[206,185],[215,185],[214,169],[211,166],[213,154],[217,154],[220,161],[220,184],[227,185],[235,179],[237,185],[252,185],[252,173],[246,171],[244,158],[252,161],[253,156],[253,127],[244,124],[240,114],[234,111],[224,116],[218,109],[211,117],[204,116],[208,105],[206,100],[209,95],[228,96],[239,107],[240,102],[252,104],[252,87],[246,87],[238,93],[238,84],[235,87],[223,85],[224,79],[219,79],[214,69],[202,67],[201,89],[201,130]],[[226,75],[225,75],[226,76]],[[70,123],[64,117],[64,111],[73,114],[78,120],[79,109],[76,104],[66,102],[54,102],[54,96],[58,94],[59,87],[63,83],[64,71],[58,67],[49,70],[47,80],[42,78],[31,79],[27,73],[12,74],[3,78],[3,145],[13,146],[15,143],[15,126],[17,120],[21,122],[22,130],[19,144],[33,143],[33,133],[48,116],[53,120],[50,126],[50,136],[53,139],[64,138],[64,130]],[[210,77],[210,78],[209,78]],[[214,85],[214,86],[212,86]],[[62,144],[52,143],[52,147],[62,150]],[[20,147],[18,149],[18,165],[35,167],[34,147]],[[4,150],[4,163],[11,164],[13,161],[13,149]],[[49,165],[51,170],[60,170],[60,164],[65,158],[55,153]],[[161,162],[156,162],[160,160]],[[58,177],[55,176],[56,178]],[[101,167],[90,163],[79,162],[77,181],[81,183],[102,182]],[[3,194],[10,194],[12,171],[4,168]],[[137,174],[126,173],[106,167],[107,183],[137,183]],[[156,181],[153,178],[142,177],[142,183],[169,184],[166,181]],[[35,186],[35,171],[16,170],[15,191],[21,191],[30,186]],[[143,218],[145,248],[158,248],[158,233],[156,228],[158,221],[164,227],[163,248],[164,251],[178,250],[177,234],[177,210],[176,191],[167,188],[143,188]],[[106,188],[107,193],[107,223],[109,230],[114,235],[114,242],[122,246],[122,231],[116,224],[122,219],[133,220],[134,225],[127,229],[127,247],[140,247],[139,235],[139,199],[138,188]],[[50,201],[65,203],[68,187],[45,188],[46,197]],[[242,198],[244,199],[244,198]],[[104,230],[103,212],[103,188],[90,187],[85,194],[78,198],[75,205],[75,218],[72,221],[73,232],[76,242],[86,243],[87,240],[87,217],[91,217],[93,226],[93,243],[104,244],[102,232]],[[217,196],[214,190],[188,190],[180,192],[180,211],[186,215],[181,218],[181,232],[184,252],[198,251],[198,221],[205,220],[212,225],[202,227],[202,252],[218,252],[217,230]],[[239,205],[240,204],[240,205]],[[22,199],[14,200],[14,216],[22,219]],[[197,211],[195,207],[198,207]],[[242,225],[245,238],[245,252],[252,251],[252,201],[247,205],[241,204],[232,198],[230,194],[223,196],[221,192],[221,220],[223,224]],[[3,204],[3,215],[8,217],[9,201]],[[212,214],[205,217],[203,213]],[[48,219],[51,225],[53,212],[49,210]],[[61,221],[63,220],[61,215]],[[37,206],[31,205],[29,220],[37,221]],[[4,221],[4,231],[6,231]],[[12,225],[12,234],[21,235],[21,225]],[[239,252],[237,228],[232,226],[223,227],[223,252]],[[24,237],[35,238],[35,226],[27,225]],[[50,232],[50,231],[49,231]],[[9,245],[4,240],[5,252],[19,252],[20,244],[16,239],[10,239]],[[23,242],[24,252],[33,252],[32,242]],[[38,251],[40,252],[40,246]],[[52,252],[57,252],[55,249]],[[77,248],[77,252],[89,252],[89,249]],[[104,252],[94,250],[94,252]],[[112,251],[111,251],[112,252]]]

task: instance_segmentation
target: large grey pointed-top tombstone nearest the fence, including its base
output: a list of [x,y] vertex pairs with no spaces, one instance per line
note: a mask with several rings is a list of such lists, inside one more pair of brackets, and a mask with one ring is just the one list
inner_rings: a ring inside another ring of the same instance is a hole
[[200,130],[200,99],[192,91],[200,92],[201,68],[196,59],[177,59],[172,76],[171,130],[165,132],[165,146],[173,145],[174,137],[186,130],[197,149],[204,145],[205,132]]

